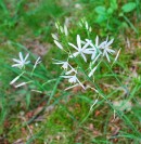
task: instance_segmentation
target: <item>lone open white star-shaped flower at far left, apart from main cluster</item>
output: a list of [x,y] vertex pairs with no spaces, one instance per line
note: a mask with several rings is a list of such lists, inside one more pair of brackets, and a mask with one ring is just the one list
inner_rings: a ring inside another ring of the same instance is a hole
[[26,61],[29,56],[29,53],[26,54],[25,58],[22,55],[22,52],[20,52],[20,60],[13,58],[13,61],[17,64],[12,65],[12,67],[20,67],[23,68],[25,65],[29,64],[30,61]]

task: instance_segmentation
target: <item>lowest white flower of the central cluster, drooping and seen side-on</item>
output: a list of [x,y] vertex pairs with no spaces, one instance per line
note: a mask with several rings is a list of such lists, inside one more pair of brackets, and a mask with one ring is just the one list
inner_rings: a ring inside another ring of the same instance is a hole
[[74,76],[61,76],[61,77],[67,78],[69,83],[79,83],[82,87],[82,89],[86,89],[84,87],[84,84],[78,80],[78,78],[76,77],[76,75],[74,75]]

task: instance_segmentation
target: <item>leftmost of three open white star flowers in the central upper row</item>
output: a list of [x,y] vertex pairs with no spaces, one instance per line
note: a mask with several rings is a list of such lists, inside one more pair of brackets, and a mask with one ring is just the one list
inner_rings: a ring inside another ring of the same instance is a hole
[[80,54],[81,57],[85,60],[85,62],[87,62],[85,54],[91,54],[91,51],[89,49],[87,50],[87,48],[91,43],[91,41],[86,42],[84,47],[81,47],[81,43],[82,43],[82,41],[80,40],[79,35],[77,35],[77,47],[74,45],[73,43],[68,43],[70,47],[73,47],[74,49],[77,50],[77,52],[73,53],[73,55],[70,55],[69,57],[73,57],[73,56],[76,57],[78,54]]

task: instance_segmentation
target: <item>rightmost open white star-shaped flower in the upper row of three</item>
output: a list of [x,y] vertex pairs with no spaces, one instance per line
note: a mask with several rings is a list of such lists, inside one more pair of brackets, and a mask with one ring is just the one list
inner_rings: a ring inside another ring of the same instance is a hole
[[104,42],[104,44],[102,45],[102,48],[100,48],[100,49],[103,49],[103,56],[106,56],[108,62],[111,62],[111,60],[108,57],[108,53],[110,54],[115,53],[114,50],[110,49],[110,45],[113,43],[113,41],[114,41],[114,39],[108,41],[108,38],[107,38],[106,41]]

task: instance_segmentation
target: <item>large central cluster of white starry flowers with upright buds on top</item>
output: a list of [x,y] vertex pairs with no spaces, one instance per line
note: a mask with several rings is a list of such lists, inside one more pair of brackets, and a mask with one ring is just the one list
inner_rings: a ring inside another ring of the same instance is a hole
[[[120,51],[116,52],[116,50],[112,49],[114,39],[108,40],[108,37],[104,41],[100,41],[99,36],[97,36],[93,41],[90,38],[92,28],[89,27],[87,21],[82,19],[79,25],[80,27],[85,26],[85,29],[87,30],[87,37],[85,39],[81,38],[84,36],[77,34],[76,40],[70,42],[68,35],[64,35],[67,38],[65,37],[65,39],[63,38],[62,40],[59,37],[55,37],[56,35],[54,36],[54,34],[52,34],[54,43],[60,49],[61,53],[66,56],[64,60],[53,58],[53,63],[61,65],[64,70],[64,75],[61,77],[67,79],[70,83],[70,86],[65,90],[76,86],[80,86],[86,90],[87,86],[85,86],[85,82],[88,78],[94,78],[94,73],[101,63],[106,60],[107,63],[112,64],[111,56],[113,55],[115,55],[115,61],[113,61],[113,63],[115,63]],[[67,27],[65,26],[65,30],[63,30],[63,27],[59,24],[55,26],[59,35],[61,35],[60,37],[62,38],[62,31],[65,31]],[[67,34],[69,34],[68,30]]]

